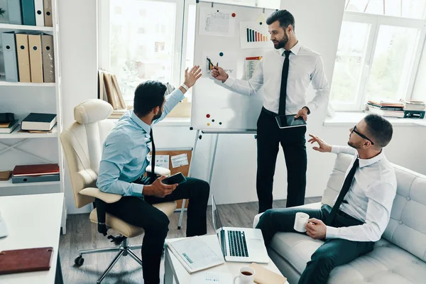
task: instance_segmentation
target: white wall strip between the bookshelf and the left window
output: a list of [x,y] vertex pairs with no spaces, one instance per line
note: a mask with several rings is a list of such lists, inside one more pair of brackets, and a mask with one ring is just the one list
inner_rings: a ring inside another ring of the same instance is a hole
[[[62,69],[63,124],[74,122],[74,107],[97,97],[97,1],[58,1]],[[77,16],[78,15],[78,16]],[[65,166],[68,213],[77,211]],[[87,212],[87,209],[85,209]]]

